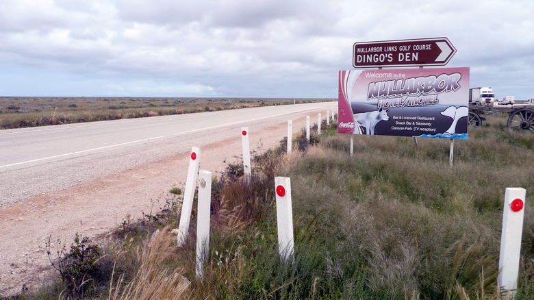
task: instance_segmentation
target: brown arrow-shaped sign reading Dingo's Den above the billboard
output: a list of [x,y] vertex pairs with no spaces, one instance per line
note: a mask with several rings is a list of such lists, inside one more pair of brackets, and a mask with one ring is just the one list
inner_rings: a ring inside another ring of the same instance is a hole
[[455,53],[448,38],[356,42],[353,66],[444,66]]

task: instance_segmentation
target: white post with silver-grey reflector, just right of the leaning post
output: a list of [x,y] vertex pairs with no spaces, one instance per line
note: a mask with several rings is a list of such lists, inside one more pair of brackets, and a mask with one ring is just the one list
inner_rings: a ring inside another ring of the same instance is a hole
[[202,278],[209,254],[209,216],[212,203],[212,173],[199,172],[199,208],[196,218],[196,278]]

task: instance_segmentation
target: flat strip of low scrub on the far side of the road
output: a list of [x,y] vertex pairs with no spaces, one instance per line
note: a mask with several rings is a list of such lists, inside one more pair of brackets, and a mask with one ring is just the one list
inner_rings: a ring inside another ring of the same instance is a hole
[[0,97],[0,129],[235,110],[332,99]]

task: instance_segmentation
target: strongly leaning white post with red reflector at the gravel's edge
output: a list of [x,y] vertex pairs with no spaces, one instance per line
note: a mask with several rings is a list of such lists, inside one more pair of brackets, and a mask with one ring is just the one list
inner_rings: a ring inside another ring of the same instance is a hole
[[196,179],[199,177],[200,154],[201,151],[199,147],[192,147],[189,160],[188,179],[186,182],[186,190],[183,191],[183,203],[181,205],[180,224],[178,226],[178,246],[183,245],[183,242],[186,241],[186,236],[188,236],[189,233],[189,221],[191,221],[194,189],[196,188]]

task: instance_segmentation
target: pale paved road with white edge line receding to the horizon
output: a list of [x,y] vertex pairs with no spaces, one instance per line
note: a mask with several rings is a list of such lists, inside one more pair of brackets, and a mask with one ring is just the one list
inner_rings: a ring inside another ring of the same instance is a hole
[[[0,207],[142,166],[305,115],[337,102],[268,106],[0,131]],[[283,138],[281,136],[280,138]]]

